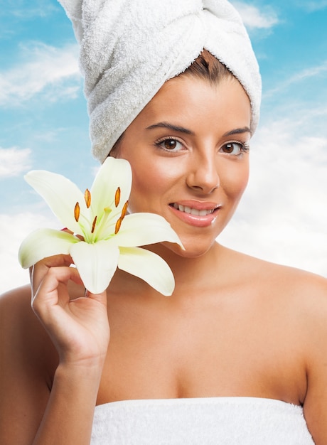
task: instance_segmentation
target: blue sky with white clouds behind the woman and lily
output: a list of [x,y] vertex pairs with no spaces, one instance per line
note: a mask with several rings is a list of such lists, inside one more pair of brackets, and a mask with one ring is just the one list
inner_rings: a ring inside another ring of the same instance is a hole
[[[257,53],[263,102],[250,183],[220,241],[327,277],[327,0],[232,3]],[[23,181],[32,168],[92,183],[77,45],[56,0],[0,0],[0,291],[28,282],[23,237],[58,227]]]

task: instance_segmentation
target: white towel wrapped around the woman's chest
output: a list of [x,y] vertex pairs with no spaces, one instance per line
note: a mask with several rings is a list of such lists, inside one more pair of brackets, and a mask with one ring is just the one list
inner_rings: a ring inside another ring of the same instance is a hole
[[95,408],[91,445],[314,445],[303,410],[255,397],[126,400]]

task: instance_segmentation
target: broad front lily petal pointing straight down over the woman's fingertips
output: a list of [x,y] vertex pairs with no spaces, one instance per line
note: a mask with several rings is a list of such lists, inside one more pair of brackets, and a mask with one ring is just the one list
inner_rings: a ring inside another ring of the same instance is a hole
[[118,264],[119,249],[115,242],[82,241],[71,247],[70,255],[88,291],[100,294],[107,289]]

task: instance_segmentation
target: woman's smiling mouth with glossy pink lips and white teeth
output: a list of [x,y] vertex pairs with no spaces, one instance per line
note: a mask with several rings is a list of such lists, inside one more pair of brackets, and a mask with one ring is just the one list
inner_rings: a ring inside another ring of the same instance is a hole
[[217,218],[221,206],[217,203],[188,200],[178,201],[169,207],[174,215],[184,223],[195,227],[208,227]]

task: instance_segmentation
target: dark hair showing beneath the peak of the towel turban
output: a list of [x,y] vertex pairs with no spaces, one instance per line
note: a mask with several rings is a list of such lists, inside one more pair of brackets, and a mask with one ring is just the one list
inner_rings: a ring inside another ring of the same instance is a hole
[[235,77],[223,63],[205,49],[181,75],[191,75],[208,80],[210,83],[217,83],[225,77]]

